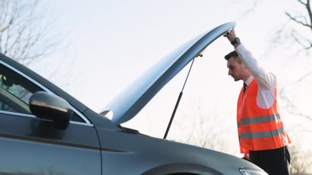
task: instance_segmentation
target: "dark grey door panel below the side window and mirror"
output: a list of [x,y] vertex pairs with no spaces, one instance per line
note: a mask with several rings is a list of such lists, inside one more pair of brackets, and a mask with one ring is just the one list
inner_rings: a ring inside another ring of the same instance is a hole
[[0,112],[0,174],[101,174],[100,143],[92,126]]

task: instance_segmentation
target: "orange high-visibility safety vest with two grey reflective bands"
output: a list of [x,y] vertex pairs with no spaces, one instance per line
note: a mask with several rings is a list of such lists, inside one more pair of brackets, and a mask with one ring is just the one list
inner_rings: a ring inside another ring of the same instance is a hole
[[274,104],[267,109],[257,105],[257,92],[258,84],[253,79],[244,95],[242,88],[237,102],[237,126],[242,153],[280,148],[291,143],[279,113],[277,85]]

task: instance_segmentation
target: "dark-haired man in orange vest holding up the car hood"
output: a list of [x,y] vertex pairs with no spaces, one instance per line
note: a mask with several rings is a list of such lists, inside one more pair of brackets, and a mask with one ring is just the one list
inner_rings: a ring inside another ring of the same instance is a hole
[[278,104],[277,78],[267,73],[245,49],[234,29],[224,35],[235,51],[227,60],[228,75],[244,85],[237,102],[240,149],[249,161],[268,174],[289,174],[291,143]]

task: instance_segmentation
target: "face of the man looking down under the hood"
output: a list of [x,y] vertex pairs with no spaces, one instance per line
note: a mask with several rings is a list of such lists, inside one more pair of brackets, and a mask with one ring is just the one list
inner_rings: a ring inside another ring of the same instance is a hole
[[238,62],[238,59],[235,59],[235,57],[230,57],[227,60],[227,68],[228,68],[228,75],[232,76],[234,78],[234,81],[239,81],[243,78],[243,75],[245,73],[244,71],[244,65]]

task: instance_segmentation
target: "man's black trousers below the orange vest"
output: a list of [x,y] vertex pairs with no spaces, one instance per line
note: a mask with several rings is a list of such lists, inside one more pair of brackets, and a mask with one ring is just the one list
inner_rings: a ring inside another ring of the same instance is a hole
[[250,150],[249,161],[262,168],[269,175],[290,174],[290,155],[287,146],[267,150]]

